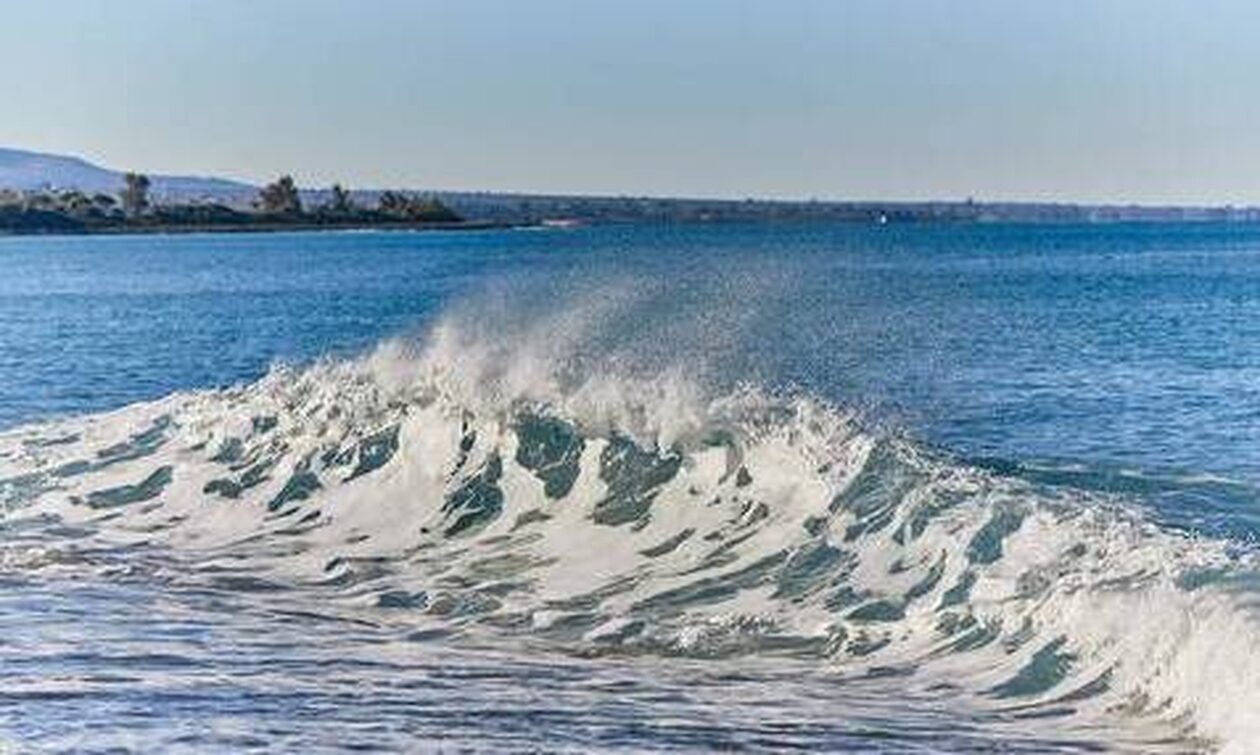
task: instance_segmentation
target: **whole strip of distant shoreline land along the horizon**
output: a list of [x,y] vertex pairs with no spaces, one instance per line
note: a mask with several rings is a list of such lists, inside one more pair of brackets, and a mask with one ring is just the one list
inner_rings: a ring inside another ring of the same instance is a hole
[[[117,175],[117,174],[115,174]],[[166,183],[163,183],[163,182]],[[108,184],[105,184],[108,185]],[[190,198],[192,197],[192,198]],[[456,209],[452,209],[456,208]],[[0,189],[0,234],[488,228],[585,223],[1256,223],[1256,207],[1149,207],[1021,202],[830,202],[590,197],[494,192],[300,189],[291,176],[173,193],[169,179],[129,173],[113,192]]]

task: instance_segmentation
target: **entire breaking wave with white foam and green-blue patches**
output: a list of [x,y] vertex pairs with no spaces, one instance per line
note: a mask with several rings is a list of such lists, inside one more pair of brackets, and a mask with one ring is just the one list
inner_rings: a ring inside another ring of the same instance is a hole
[[9,432],[4,570],[299,596],[415,639],[804,659],[1011,736],[1260,741],[1249,552],[809,396],[568,363],[446,321]]

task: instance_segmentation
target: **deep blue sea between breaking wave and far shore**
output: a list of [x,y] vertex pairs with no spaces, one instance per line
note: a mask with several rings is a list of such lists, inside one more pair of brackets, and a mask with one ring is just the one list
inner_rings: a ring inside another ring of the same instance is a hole
[[353,354],[457,300],[605,281],[650,291],[620,326],[665,358],[876,407],[960,454],[1260,481],[1249,226],[5,238],[0,426]]

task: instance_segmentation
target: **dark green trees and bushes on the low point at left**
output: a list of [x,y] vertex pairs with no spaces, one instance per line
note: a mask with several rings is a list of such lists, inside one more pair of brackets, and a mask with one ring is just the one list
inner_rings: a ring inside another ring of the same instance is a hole
[[375,207],[362,207],[340,185],[328,192],[326,202],[307,208],[289,175],[260,189],[248,209],[217,202],[154,202],[150,184],[147,176],[129,173],[117,194],[88,194],[76,189],[0,189],[0,233],[282,231],[450,226],[464,222],[433,197],[382,192]]

